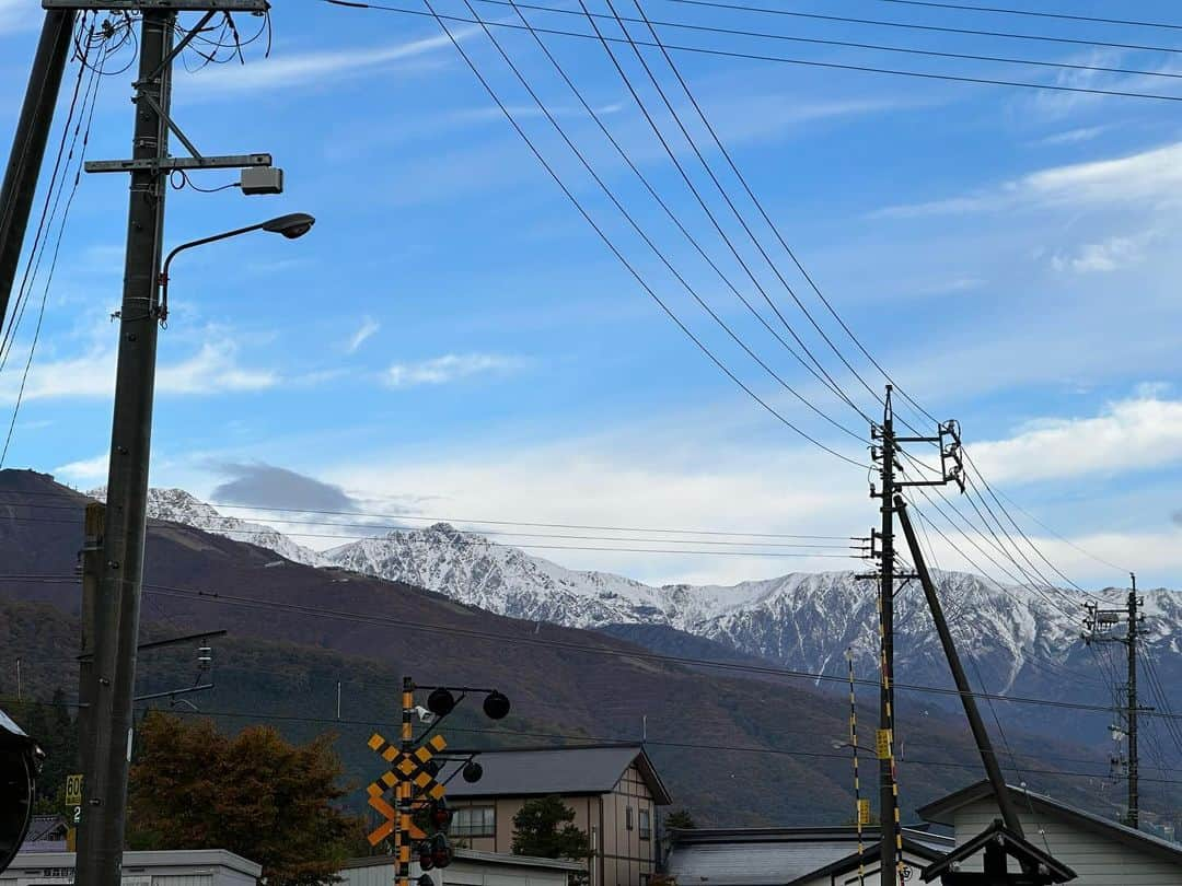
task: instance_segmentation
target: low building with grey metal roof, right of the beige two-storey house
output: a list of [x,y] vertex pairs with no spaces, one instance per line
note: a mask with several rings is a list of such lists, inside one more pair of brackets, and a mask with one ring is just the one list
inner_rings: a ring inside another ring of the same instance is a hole
[[[953,848],[953,840],[903,828],[904,875]],[[879,886],[879,832],[855,827],[709,828],[675,830],[665,862],[677,886]]]

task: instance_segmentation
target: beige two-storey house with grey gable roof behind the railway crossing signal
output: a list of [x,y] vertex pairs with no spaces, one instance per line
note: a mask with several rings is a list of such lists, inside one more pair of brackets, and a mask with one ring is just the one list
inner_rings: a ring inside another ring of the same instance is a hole
[[[635,744],[482,751],[483,777],[448,782],[450,834],[481,852],[513,851],[513,816],[526,800],[558,796],[591,843],[589,886],[647,886],[658,858],[657,807],[669,791]],[[455,774],[449,764],[440,780]]]

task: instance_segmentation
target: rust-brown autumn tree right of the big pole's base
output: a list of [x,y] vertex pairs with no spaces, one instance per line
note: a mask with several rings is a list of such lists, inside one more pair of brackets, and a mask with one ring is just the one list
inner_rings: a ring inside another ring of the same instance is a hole
[[362,822],[336,806],[345,790],[331,744],[291,744],[271,727],[228,737],[152,712],[131,768],[128,845],[229,849],[262,865],[268,886],[333,884]]

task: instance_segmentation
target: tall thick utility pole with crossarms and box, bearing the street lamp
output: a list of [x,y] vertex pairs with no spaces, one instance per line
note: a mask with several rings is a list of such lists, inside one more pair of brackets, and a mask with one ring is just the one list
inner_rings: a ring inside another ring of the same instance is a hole
[[[126,9],[126,0],[41,0],[47,11]],[[242,190],[277,194],[280,170],[271,170],[266,154],[203,156],[170,113],[171,71],[177,56],[203,32],[215,15],[235,12],[266,14],[267,0],[135,0],[141,14],[139,65],[132,84],[135,125],[131,158],[87,161],[87,172],[125,172],[131,177],[128,210],[123,300],[118,313],[119,346],[115,409],[111,421],[110,469],[105,525],[102,527],[100,578],[93,597],[93,664],[84,675],[83,697],[90,698],[85,723],[87,747],[83,782],[82,827],[76,882],[118,886],[123,867],[128,773],[131,764],[136,650],[143,587],[148,471],[156,376],[156,341],[161,310],[161,256],[164,240],[164,197],[168,176],[186,169],[248,169]],[[178,12],[202,12],[174,45]],[[171,157],[169,132],[191,155]],[[258,169],[268,168],[268,169]],[[249,184],[249,188],[248,188]],[[87,528],[91,528],[87,525]],[[84,613],[85,617],[85,613]],[[84,627],[84,631],[86,627]]]

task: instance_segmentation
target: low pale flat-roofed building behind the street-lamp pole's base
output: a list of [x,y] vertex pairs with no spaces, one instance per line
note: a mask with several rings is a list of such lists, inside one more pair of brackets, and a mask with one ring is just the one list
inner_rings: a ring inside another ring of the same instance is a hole
[[[122,886],[256,886],[262,867],[226,849],[123,853]],[[72,852],[19,852],[0,886],[72,886]]]

